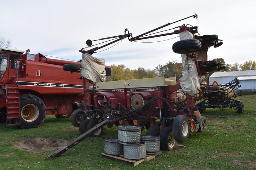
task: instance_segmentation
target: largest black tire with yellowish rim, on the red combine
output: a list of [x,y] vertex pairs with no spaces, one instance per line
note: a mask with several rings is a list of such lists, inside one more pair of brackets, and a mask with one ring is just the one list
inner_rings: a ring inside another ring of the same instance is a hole
[[42,99],[35,95],[20,95],[20,127],[34,128],[44,123],[46,107]]

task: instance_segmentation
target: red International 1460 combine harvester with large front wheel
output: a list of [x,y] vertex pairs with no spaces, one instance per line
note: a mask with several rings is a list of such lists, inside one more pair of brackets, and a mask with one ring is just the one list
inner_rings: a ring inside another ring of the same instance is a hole
[[69,117],[83,102],[80,75],[62,69],[64,64],[80,68],[79,62],[29,51],[0,48],[1,122],[21,128],[39,127],[46,115]]

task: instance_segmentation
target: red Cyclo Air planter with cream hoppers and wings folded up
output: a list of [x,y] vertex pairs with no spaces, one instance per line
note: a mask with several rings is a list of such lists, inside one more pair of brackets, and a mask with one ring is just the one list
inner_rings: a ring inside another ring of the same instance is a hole
[[[190,17],[197,19],[196,14]],[[81,135],[47,157],[55,158],[60,156],[90,135],[101,136],[103,126],[105,125],[109,128],[113,124],[134,124],[142,127],[145,125],[148,129],[147,135],[160,136],[160,147],[164,150],[172,150],[176,146],[177,141],[185,142],[190,132],[206,130],[207,120],[198,111],[195,96],[198,94],[198,90],[200,90],[200,76],[208,71],[225,68],[222,63],[207,61],[209,47],[220,46],[222,44],[220,41],[222,40],[218,39],[218,35],[195,35],[197,33],[197,26],[191,25],[180,25],[172,28],[178,29],[173,32],[152,35],[154,34],[152,32],[176,22],[168,23],[136,37],[132,37],[132,34],[125,29],[124,35],[98,39],[112,40],[104,41],[108,43],[103,46],[94,47],[87,51],[84,51],[84,48],[80,50],[83,53],[81,63],[83,65],[83,62],[87,63],[88,60],[95,59],[91,56],[95,51],[125,38],[128,38],[129,41],[137,41],[179,34],[180,41],[174,43],[172,49],[175,53],[181,54],[183,77],[180,79],[180,82],[176,81],[175,77],[110,82],[95,81],[96,89],[92,90],[89,89],[89,83],[92,79],[90,76],[84,77],[85,110],[79,111],[85,113],[87,118],[79,126]],[[85,48],[93,46],[92,40],[87,40],[86,44],[87,47]],[[74,71],[74,69],[71,71]],[[77,69],[76,71],[79,70]],[[81,67],[80,74],[83,71]],[[101,73],[103,73],[103,70]],[[176,93],[179,89],[183,89],[186,92],[185,100],[177,98]]]

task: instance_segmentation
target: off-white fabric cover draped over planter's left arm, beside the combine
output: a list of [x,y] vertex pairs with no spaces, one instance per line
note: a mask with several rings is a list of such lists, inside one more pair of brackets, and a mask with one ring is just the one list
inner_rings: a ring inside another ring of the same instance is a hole
[[91,54],[84,53],[80,76],[93,82],[106,81],[105,59],[95,58]]

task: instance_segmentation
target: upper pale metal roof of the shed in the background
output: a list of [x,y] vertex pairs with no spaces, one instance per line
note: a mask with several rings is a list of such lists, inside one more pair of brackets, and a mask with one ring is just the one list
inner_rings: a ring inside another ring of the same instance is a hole
[[256,70],[214,72],[210,76],[210,78],[212,78],[212,77],[241,77],[241,76],[256,76]]

